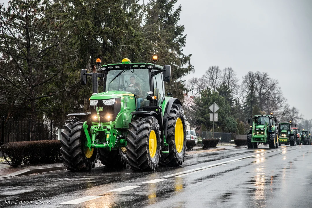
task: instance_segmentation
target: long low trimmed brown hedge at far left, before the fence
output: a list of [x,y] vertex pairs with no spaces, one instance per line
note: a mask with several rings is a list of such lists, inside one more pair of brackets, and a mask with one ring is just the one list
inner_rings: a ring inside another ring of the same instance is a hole
[[10,142],[0,146],[6,163],[12,167],[61,162],[61,141],[40,140]]

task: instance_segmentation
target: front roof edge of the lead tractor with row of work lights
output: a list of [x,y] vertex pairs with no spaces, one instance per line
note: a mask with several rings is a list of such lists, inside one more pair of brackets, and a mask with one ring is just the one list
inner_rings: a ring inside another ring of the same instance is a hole
[[123,70],[123,69],[154,69],[154,70],[163,70],[163,67],[151,63],[119,63],[119,64],[108,64],[102,65],[101,70]]

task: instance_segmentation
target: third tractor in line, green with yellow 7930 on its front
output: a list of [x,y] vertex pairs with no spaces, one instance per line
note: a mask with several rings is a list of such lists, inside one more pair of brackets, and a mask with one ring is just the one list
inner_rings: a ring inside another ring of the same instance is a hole
[[[296,146],[295,130],[291,129],[291,123],[279,123],[278,126],[278,145],[281,143],[290,146]],[[296,126],[296,125],[295,125]]]

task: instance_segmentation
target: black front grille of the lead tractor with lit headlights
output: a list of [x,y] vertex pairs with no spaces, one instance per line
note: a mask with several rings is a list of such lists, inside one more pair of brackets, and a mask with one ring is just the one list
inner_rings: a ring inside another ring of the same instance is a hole
[[[99,111],[101,123],[115,121],[117,114],[120,112],[121,98],[116,98],[115,103],[112,105],[105,105],[104,102],[105,100],[99,100],[97,104],[97,107],[99,109],[100,107],[103,108],[102,111]],[[97,118],[94,118],[95,116],[97,116],[96,107],[90,106],[90,111],[92,115],[92,121],[99,122]]]

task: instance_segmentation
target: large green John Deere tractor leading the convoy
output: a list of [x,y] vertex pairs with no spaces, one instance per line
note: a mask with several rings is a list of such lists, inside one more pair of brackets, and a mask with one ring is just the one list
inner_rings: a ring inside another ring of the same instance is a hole
[[[186,150],[186,124],[179,99],[165,96],[171,66],[154,63],[91,65],[81,70],[81,84],[92,76],[93,94],[87,113],[68,114],[61,152],[70,171],[88,171],[97,159],[112,168],[128,163],[136,171],[180,166]],[[100,73],[97,73],[99,71]],[[98,78],[103,92],[98,93]]]

